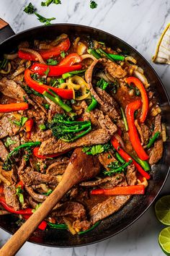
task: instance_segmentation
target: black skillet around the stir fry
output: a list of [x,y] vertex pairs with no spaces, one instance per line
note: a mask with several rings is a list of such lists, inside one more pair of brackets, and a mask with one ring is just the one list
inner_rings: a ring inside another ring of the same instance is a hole
[[[170,137],[170,106],[169,98],[158,75],[153,70],[148,61],[141,56],[138,51],[129,46],[124,41],[105,33],[102,30],[97,30],[92,27],[86,27],[83,25],[72,24],[56,24],[50,26],[34,27],[30,30],[26,30],[22,33],[14,35],[13,30],[5,22],[0,20],[0,54],[8,53],[17,48],[17,45],[22,40],[34,40],[55,38],[61,33],[68,35],[90,35],[92,38],[100,41],[104,41],[108,46],[116,48],[117,46],[127,51],[130,56],[133,56],[138,61],[138,66],[142,67],[145,71],[148,82],[151,84],[151,88],[157,95],[158,101],[162,110],[162,120],[166,123],[167,136]],[[9,38],[9,36],[11,36]],[[8,39],[6,39],[8,38]],[[6,39],[6,40],[5,40]],[[170,166],[170,142],[169,140],[164,143],[164,155],[155,166],[152,166],[151,181],[149,182],[146,195],[134,196],[122,210],[104,219],[99,226],[93,231],[90,231],[84,235],[71,235],[65,230],[48,229],[46,231],[35,231],[30,237],[30,242],[42,244],[50,247],[76,247],[99,242],[109,238],[120,231],[126,229],[132,223],[134,223],[153,203],[158,193],[166,181],[169,174]],[[11,234],[17,231],[18,227],[15,223],[14,217],[0,216],[0,227]]]

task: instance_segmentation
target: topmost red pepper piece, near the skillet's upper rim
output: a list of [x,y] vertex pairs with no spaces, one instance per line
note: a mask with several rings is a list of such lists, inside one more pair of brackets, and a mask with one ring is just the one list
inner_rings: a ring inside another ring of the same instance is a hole
[[50,48],[46,51],[40,51],[40,55],[42,56],[42,59],[50,59],[53,57],[57,57],[61,54],[61,51],[68,51],[70,46],[70,40],[69,38],[67,38],[66,40],[63,40],[63,42],[59,43],[58,46]]

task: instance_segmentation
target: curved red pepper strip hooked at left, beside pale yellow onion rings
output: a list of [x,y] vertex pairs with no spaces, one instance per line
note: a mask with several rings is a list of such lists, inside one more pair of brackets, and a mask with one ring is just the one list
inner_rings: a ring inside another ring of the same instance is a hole
[[45,91],[49,92],[48,89],[51,89],[61,98],[66,98],[68,100],[73,98],[73,91],[71,89],[53,88],[48,85],[40,85],[37,81],[32,79],[31,74],[33,74],[33,72],[30,69],[26,69],[24,72],[24,80],[30,88],[36,90],[38,93],[42,94]]

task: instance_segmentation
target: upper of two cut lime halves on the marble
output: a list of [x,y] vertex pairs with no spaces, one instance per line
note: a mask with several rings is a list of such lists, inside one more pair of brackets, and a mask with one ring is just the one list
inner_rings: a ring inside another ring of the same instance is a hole
[[156,202],[155,211],[158,221],[170,226],[170,195],[165,195]]

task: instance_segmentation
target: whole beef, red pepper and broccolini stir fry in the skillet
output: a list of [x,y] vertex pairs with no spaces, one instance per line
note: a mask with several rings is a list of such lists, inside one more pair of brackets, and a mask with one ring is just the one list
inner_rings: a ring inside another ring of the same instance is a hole
[[82,168],[89,171],[89,159],[99,174],[70,189],[38,228],[91,231],[146,193],[165,141],[151,86],[122,49],[62,34],[21,42],[1,57],[0,214],[18,225],[58,186],[78,150]]

